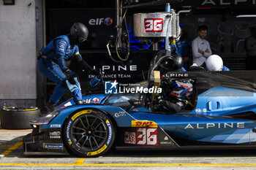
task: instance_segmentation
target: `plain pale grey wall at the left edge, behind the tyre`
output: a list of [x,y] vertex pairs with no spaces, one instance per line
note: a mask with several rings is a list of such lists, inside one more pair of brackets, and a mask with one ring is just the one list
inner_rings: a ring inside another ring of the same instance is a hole
[[36,105],[41,17],[42,1],[18,0],[15,5],[0,1],[0,108]]

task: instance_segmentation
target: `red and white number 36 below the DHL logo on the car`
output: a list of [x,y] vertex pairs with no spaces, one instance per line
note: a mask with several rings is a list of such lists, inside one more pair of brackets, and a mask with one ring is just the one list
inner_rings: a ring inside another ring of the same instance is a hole
[[157,146],[157,128],[138,128],[136,144]]

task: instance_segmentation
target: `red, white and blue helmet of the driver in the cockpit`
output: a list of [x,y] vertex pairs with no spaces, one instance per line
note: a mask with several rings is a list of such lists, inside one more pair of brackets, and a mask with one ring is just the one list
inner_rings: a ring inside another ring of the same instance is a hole
[[170,92],[170,97],[188,98],[193,92],[192,81],[189,79],[173,80],[171,85],[173,89]]

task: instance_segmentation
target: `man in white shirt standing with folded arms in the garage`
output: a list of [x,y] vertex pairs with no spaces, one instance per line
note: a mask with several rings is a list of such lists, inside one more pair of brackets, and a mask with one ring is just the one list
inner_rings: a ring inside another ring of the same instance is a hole
[[211,55],[210,44],[205,39],[207,31],[207,26],[199,26],[197,29],[198,36],[192,42],[193,63],[196,63],[197,66],[201,66]]

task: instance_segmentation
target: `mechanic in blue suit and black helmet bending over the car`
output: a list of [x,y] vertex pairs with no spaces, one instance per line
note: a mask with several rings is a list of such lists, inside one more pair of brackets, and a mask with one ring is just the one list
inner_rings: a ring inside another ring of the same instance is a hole
[[65,60],[74,58],[91,74],[99,74],[83,60],[78,50],[78,44],[85,42],[88,34],[88,28],[83,23],[74,23],[70,29],[70,34],[56,37],[37,54],[39,71],[57,84],[45,106],[48,111],[55,109],[66,88],[72,93],[75,104],[83,104],[78,77],[75,72],[69,70]]

